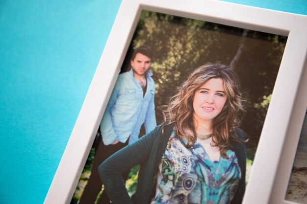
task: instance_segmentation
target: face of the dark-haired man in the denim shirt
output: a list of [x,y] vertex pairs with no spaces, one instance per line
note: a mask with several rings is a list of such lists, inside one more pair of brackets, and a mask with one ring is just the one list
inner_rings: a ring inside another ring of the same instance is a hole
[[140,76],[143,76],[152,64],[151,59],[141,53],[137,53],[130,63],[134,74]]

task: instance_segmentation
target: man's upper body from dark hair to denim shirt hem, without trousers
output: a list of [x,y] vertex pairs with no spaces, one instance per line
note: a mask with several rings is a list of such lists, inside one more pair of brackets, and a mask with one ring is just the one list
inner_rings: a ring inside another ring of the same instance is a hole
[[[102,117],[104,145],[131,143],[138,139],[142,124],[146,133],[156,126],[153,73],[149,70],[153,52],[148,46],[134,50],[131,70],[119,75]],[[121,149],[121,148],[120,148]]]

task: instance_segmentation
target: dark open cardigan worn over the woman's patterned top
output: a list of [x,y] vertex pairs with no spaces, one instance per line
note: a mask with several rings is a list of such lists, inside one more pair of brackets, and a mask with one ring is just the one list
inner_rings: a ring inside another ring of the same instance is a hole
[[[162,127],[164,127],[164,136]],[[151,202],[155,194],[158,166],[172,131],[172,125],[157,126],[153,131],[121,149],[99,166],[99,175],[112,204],[148,204]],[[239,129],[237,129],[237,135],[240,139],[244,139]],[[238,159],[242,176],[231,204],[241,204],[245,191],[245,144],[233,141],[233,151]],[[132,202],[121,174],[137,164],[141,164],[141,167],[137,190]]]

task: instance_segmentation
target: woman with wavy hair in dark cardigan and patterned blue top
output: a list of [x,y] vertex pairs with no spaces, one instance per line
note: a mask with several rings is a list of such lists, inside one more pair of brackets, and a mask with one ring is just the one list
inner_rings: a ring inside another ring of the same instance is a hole
[[164,124],[99,167],[112,204],[132,204],[121,173],[141,164],[135,204],[240,204],[246,150],[237,76],[222,64],[197,68],[163,112]]

